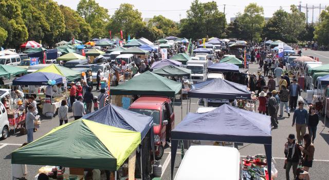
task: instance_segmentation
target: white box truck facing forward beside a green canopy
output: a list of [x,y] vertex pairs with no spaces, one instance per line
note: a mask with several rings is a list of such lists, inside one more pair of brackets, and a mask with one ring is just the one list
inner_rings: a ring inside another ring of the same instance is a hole
[[204,82],[207,78],[207,60],[189,60],[187,69],[191,70],[191,79],[193,83]]

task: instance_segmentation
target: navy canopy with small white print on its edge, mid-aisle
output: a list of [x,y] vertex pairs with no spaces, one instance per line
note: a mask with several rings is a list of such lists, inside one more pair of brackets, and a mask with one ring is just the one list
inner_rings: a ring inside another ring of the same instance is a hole
[[192,84],[188,92],[189,98],[215,99],[251,99],[246,85],[217,78],[210,81]]

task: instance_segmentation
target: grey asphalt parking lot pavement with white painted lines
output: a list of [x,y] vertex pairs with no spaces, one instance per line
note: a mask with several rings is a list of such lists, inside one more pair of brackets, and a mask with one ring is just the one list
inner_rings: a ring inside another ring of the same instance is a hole
[[[303,50],[304,55],[319,57],[320,61],[324,63],[329,63],[329,52],[323,51],[312,51],[312,50]],[[258,64],[250,64],[249,72],[257,72]],[[95,96],[99,94],[99,92],[93,92]],[[305,93],[302,93],[302,96],[305,97]],[[177,97],[178,98],[178,97]],[[181,106],[182,105],[182,106]],[[181,122],[181,116],[184,118],[187,114],[187,100],[183,100],[182,103],[177,99],[174,105],[175,112],[175,124],[177,125]],[[198,99],[192,99],[191,101],[191,113],[195,113],[198,107],[203,106],[198,103]],[[306,107],[306,106],[305,106]],[[286,137],[289,133],[295,133],[296,130],[294,127],[291,127],[292,124],[293,113],[291,113],[291,117],[287,117],[284,114],[283,118],[279,118],[279,128],[272,130],[272,156],[276,161],[276,168],[279,171],[279,175],[277,179],[285,179],[285,170],[283,169],[284,164],[284,143],[286,142]],[[74,118],[72,113],[69,113],[69,122],[73,121]],[[328,121],[327,121],[328,122]],[[58,116],[53,119],[50,118],[42,118],[41,127],[37,132],[33,133],[34,140],[42,137],[45,133],[49,132],[52,128],[59,126]],[[26,142],[26,135],[21,136],[19,133],[11,135],[6,140],[0,140],[0,180],[2,179],[11,179],[11,152],[20,147],[21,144]],[[315,139],[315,154],[314,154],[314,163],[313,168],[310,168],[310,176],[312,179],[329,179],[329,128],[328,123],[326,123],[326,127],[322,121],[318,125],[317,130],[317,138]],[[63,144],[65,146],[65,144]],[[246,155],[255,155],[265,153],[264,146],[260,144],[248,144],[248,143],[239,143],[237,146],[239,152],[244,158]],[[206,152],[205,152],[206,153]],[[220,152],[219,152],[220,153]],[[200,154],[202,155],[202,154]],[[174,167],[174,174],[176,173],[179,164],[181,162],[181,154],[180,149],[177,150],[176,161]],[[170,167],[171,167],[171,153],[170,147],[167,146],[165,149],[165,154],[161,159],[162,165],[162,176],[161,179],[171,179],[170,175]],[[205,165],[206,166],[206,165]],[[38,169],[41,166],[32,166],[28,165],[28,175],[27,179],[34,179],[34,175],[38,172]],[[218,170],[220,171],[220,170]],[[192,172],[191,172],[192,173]],[[200,173],[200,172],[194,172]],[[224,172],[223,172],[224,173]],[[292,177],[292,171],[290,172],[290,179]]]

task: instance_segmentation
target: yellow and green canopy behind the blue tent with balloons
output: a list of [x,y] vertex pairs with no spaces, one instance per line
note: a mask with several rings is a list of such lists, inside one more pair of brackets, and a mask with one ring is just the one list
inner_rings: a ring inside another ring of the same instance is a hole
[[[43,69],[40,69],[36,72],[44,72],[44,73],[55,73],[61,76],[66,77],[66,81],[76,81],[81,77],[81,73],[79,71],[71,70],[69,68],[65,68],[64,66],[51,64],[49,66],[46,66]],[[34,72],[34,73],[36,73]]]

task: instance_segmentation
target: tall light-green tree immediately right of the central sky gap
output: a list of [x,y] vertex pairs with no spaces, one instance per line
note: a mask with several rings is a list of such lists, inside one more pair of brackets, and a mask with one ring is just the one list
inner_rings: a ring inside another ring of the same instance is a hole
[[240,22],[242,33],[250,41],[260,41],[261,32],[264,26],[264,9],[257,6],[256,3],[250,3],[245,7],[243,14],[237,15],[237,21]]

